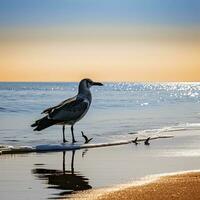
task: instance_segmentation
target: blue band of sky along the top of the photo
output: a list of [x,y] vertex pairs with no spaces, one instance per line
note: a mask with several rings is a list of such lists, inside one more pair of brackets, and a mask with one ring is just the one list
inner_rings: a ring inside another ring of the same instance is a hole
[[0,26],[200,24],[198,0],[1,0]]

